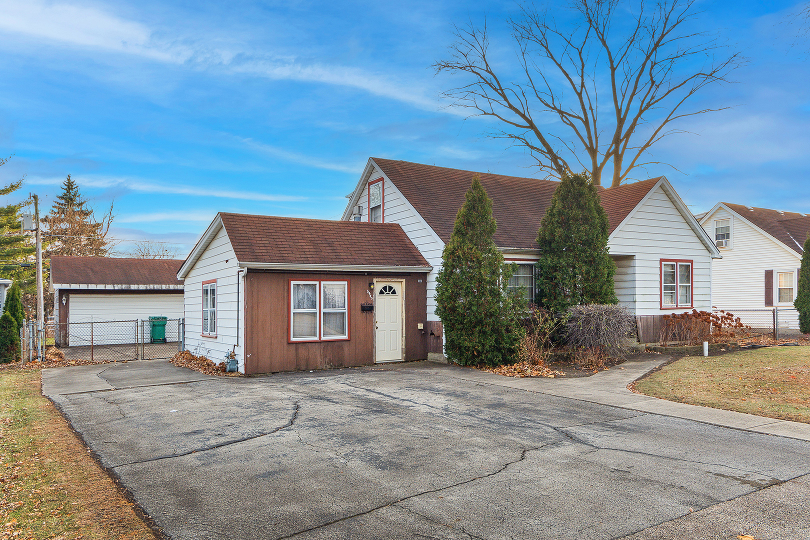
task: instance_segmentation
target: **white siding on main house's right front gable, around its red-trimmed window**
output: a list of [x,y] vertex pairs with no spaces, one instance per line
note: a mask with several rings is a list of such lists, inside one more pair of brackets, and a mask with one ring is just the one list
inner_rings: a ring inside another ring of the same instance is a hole
[[[693,261],[694,308],[711,307],[710,252],[661,186],[613,232],[608,246],[617,256],[634,253],[632,265],[616,261],[618,279],[614,281],[620,304],[634,309],[636,315],[667,313],[667,308],[661,308],[661,259]],[[629,294],[633,289],[634,304]]]

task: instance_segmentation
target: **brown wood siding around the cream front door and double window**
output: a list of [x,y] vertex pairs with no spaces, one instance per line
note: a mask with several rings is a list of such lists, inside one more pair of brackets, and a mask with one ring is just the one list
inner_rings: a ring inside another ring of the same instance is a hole
[[[349,282],[349,339],[332,342],[289,342],[289,281]],[[245,374],[345,368],[374,363],[374,312],[361,312],[370,302],[374,279],[405,280],[405,359],[427,357],[425,274],[292,273],[249,270],[245,275]],[[421,283],[420,283],[421,280]]]

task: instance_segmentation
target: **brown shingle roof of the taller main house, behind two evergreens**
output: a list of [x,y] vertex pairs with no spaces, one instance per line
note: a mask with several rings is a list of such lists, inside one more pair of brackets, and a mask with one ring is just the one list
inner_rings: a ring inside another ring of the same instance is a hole
[[[498,223],[495,243],[503,248],[537,249],[535,240],[540,220],[560,184],[538,178],[463,171],[394,159],[372,159],[445,243],[450,240],[456,215],[475,174],[480,176],[481,185],[492,198],[492,214]],[[599,190],[602,206],[610,221],[610,232],[641,202],[657,181],[659,179],[654,178]]]

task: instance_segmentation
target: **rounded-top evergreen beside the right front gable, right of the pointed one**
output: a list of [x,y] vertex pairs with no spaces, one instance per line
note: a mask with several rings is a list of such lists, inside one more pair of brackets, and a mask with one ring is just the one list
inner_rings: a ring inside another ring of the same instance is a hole
[[563,176],[540,222],[537,303],[562,312],[579,304],[616,304],[608,254],[608,215],[586,173]]

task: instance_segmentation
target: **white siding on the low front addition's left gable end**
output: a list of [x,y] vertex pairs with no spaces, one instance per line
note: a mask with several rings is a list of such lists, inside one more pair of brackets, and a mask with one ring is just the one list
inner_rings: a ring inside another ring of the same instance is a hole
[[[239,371],[245,372],[245,283],[243,279],[239,284],[237,302],[237,270],[236,253],[224,228],[220,229],[185,277],[185,348],[214,362],[224,361],[231,351],[235,351]],[[216,280],[215,337],[203,335],[203,282],[211,279]],[[237,333],[239,344],[234,349]]]

